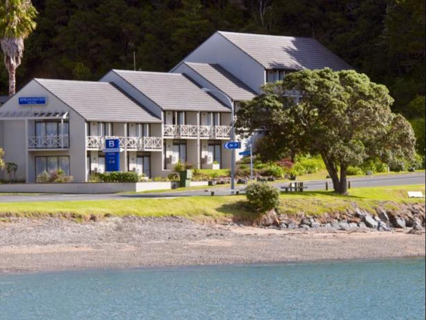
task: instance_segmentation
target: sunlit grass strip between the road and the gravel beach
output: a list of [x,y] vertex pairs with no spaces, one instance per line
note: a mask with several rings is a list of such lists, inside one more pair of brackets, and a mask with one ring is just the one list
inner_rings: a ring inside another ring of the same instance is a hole
[[[393,208],[398,203],[424,203],[425,199],[408,198],[407,191],[425,192],[424,185],[356,188],[349,195],[331,191],[283,193],[280,213],[309,215],[341,212],[355,207],[373,210],[382,205]],[[0,203],[0,217],[63,217],[80,220],[104,216],[136,215],[143,217],[180,216],[194,220],[252,220],[257,216],[247,208],[245,196],[194,196],[179,198],[143,198],[98,201],[40,201]]]

